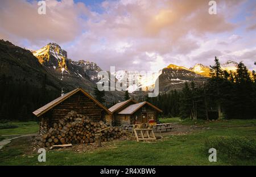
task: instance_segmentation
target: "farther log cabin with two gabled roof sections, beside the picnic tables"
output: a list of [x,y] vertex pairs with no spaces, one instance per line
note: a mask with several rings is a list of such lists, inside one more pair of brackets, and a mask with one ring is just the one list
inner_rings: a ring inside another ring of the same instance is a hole
[[113,123],[115,125],[147,123],[149,120],[156,121],[158,113],[163,112],[151,103],[137,103],[132,99],[115,104],[109,108],[109,111],[113,114]]

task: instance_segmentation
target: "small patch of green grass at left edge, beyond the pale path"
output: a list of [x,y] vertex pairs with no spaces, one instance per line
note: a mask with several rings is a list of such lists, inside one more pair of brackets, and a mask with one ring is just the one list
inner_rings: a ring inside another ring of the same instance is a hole
[[11,122],[11,124],[18,126],[18,128],[0,129],[0,136],[9,134],[31,134],[38,132],[39,125],[35,121]]

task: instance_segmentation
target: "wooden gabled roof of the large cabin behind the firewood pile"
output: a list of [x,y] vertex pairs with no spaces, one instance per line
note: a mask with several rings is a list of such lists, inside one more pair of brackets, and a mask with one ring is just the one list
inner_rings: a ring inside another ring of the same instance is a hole
[[79,91],[81,91],[85,96],[87,96],[89,99],[91,99],[99,107],[104,109],[107,113],[112,114],[112,112],[110,112],[108,108],[106,108],[103,104],[98,102],[98,100],[96,100],[92,96],[90,96],[86,91],[82,90],[82,88],[76,88],[75,90],[72,90],[63,96],[60,96],[59,98],[56,98],[55,100],[52,100],[52,102],[49,102],[48,104],[44,105],[43,107],[40,107],[39,109],[37,109],[36,111],[33,112],[34,115],[36,115],[37,117],[43,115],[44,113],[46,113],[53,107],[57,106],[57,104],[63,102],[65,99],[69,98],[70,96],[76,94]]

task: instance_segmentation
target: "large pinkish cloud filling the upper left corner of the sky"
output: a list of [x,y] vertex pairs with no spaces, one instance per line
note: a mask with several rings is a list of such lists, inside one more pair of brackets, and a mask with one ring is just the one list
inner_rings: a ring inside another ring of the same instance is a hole
[[36,1],[1,1],[1,31],[31,43],[47,39],[65,43],[81,34],[79,16],[89,14],[83,3],[51,0],[46,5],[46,15],[39,15]]

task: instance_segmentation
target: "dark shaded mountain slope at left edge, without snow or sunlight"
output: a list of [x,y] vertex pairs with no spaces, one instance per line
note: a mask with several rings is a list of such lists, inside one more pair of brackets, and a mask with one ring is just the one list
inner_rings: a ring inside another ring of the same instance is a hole
[[[30,50],[18,47],[9,41],[0,40],[0,75],[5,74],[15,82],[27,82],[33,87],[41,88],[43,83],[48,90],[58,91],[62,84],[54,75],[49,74],[45,67],[39,64]],[[46,81],[47,78],[47,82]]]

